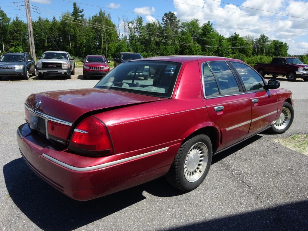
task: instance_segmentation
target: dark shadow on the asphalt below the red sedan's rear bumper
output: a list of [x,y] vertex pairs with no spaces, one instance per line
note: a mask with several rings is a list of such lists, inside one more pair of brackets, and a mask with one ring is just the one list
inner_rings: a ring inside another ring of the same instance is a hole
[[9,196],[43,230],[73,230],[145,199],[143,185],[91,201],[75,201],[36,176],[22,158],[4,165]]

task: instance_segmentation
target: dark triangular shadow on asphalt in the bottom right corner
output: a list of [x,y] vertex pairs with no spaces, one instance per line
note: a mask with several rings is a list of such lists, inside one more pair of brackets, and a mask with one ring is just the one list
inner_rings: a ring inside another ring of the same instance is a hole
[[[308,201],[279,205],[268,209],[240,213],[189,225],[162,230],[212,231],[212,230],[308,230]],[[236,208],[234,208],[234,212]]]

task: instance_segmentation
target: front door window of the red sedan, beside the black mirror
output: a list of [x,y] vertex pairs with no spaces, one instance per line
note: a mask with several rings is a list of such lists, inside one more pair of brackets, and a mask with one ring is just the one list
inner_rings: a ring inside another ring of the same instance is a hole
[[264,90],[264,82],[260,75],[257,74],[251,67],[243,63],[232,62],[233,67],[240,75],[246,91]]

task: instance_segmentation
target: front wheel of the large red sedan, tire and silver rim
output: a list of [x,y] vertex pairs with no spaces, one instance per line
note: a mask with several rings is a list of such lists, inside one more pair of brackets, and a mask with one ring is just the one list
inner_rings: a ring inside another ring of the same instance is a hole
[[288,130],[294,119],[294,110],[290,103],[285,102],[282,106],[282,112],[275,124],[269,128],[272,134],[282,134]]

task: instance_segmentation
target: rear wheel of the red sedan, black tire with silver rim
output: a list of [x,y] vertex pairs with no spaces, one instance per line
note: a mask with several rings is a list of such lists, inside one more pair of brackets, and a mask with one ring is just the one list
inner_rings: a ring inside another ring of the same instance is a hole
[[[200,150],[201,154],[197,150]],[[208,174],[212,155],[212,143],[208,136],[192,137],[180,146],[166,175],[166,180],[173,187],[184,192],[194,190]]]

